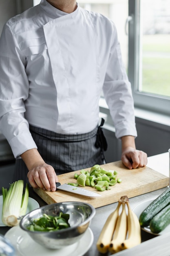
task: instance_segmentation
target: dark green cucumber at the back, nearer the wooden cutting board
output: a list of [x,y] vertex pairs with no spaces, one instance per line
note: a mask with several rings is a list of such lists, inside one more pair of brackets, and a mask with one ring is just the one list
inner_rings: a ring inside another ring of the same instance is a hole
[[150,223],[150,220],[168,204],[170,204],[170,188],[168,188],[155,200],[153,200],[141,213],[139,216],[141,227],[147,227]]

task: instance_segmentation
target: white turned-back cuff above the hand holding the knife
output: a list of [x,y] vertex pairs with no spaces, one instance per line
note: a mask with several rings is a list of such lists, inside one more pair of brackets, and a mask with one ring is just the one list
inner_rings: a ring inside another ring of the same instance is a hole
[[20,155],[26,150],[37,148],[33,137],[30,132],[22,132],[18,136],[14,137],[9,141],[11,150],[16,159],[20,158]]

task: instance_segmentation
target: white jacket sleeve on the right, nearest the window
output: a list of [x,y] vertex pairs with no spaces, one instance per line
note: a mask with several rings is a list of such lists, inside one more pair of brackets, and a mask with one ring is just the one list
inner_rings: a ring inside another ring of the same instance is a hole
[[104,97],[108,104],[110,115],[115,124],[116,137],[125,135],[137,136],[134,115],[134,102],[131,85],[121,57],[117,31],[113,25],[112,46],[104,80]]

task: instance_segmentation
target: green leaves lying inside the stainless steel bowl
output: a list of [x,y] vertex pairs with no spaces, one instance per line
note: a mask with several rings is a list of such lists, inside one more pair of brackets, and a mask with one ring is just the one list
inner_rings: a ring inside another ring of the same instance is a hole
[[32,220],[27,229],[30,231],[57,231],[60,229],[66,229],[70,227],[68,223],[69,214],[60,213],[59,216],[50,216],[46,213],[42,217]]

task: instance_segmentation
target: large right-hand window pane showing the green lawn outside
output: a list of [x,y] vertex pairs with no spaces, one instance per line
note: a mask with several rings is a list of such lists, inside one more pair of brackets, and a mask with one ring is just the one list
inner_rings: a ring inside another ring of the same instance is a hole
[[170,97],[170,0],[140,2],[139,92]]

